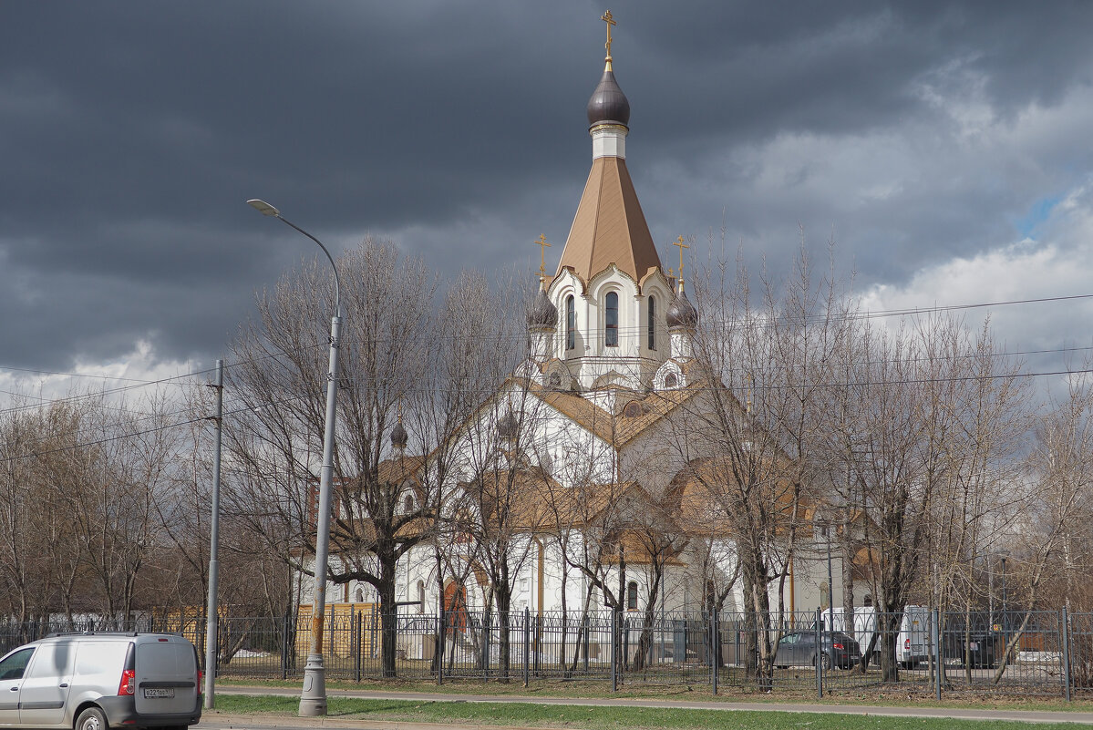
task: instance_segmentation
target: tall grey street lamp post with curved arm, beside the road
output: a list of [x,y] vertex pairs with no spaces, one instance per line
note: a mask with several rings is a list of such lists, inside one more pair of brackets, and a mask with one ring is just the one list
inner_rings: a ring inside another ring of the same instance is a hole
[[299,716],[315,717],[327,714],[326,670],[322,666],[322,622],[326,616],[327,565],[330,546],[330,483],[333,476],[334,417],[338,401],[338,346],[342,315],[338,267],[330,251],[318,238],[291,221],[265,200],[248,200],[262,215],[271,215],[285,225],[304,234],[322,249],[334,272],[334,314],[330,318],[330,367],[327,370],[327,421],[322,434],[322,470],[319,473],[319,506],[315,531],[315,588],[312,591],[312,640],[304,667],[304,688],[299,695]]

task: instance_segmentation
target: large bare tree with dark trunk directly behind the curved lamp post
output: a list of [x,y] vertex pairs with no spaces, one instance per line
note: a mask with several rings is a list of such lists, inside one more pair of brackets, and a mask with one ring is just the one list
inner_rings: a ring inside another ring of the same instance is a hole
[[[342,388],[328,579],[375,587],[384,673],[390,676],[396,565],[425,539],[419,527],[436,501],[418,493],[413,480],[385,474],[380,464],[390,454],[400,403],[425,381],[437,280],[422,261],[400,259],[393,245],[372,238],[345,252],[339,270]],[[314,570],[331,289],[329,271],[310,263],[261,296],[259,321],[242,328],[226,378],[227,395],[243,407],[227,422],[226,448],[242,473],[226,504],[268,550],[303,573]]]

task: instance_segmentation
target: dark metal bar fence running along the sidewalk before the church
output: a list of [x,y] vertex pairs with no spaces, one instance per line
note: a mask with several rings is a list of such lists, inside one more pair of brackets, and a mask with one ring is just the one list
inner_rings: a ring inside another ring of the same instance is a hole
[[[221,617],[218,675],[302,676],[310,639],[310,622],[304,619]],[[772,615],[762,622],[740,613],[399,613],[388,616],[395,662],[387,671],[383,619],[375,605],[331,611],[324,635],[328,680],[596,681],[610,682],[613,690],[660,683],[709,686],[715,693],[821,696],[891,690],[893,681],[901,690],[938,697],[992,692],[1069,699],[1093,691],[1093,613],[1066,610],[988,614],[920,609],[858,615],[851,627],[842,625],[839,615],[820,612]],[[178,633],[204,656],[204,617],[178,613],[130,622],[0,623],[0,650],[70,631]],[[896,662],[891,668],[880,662],[885,646]]]

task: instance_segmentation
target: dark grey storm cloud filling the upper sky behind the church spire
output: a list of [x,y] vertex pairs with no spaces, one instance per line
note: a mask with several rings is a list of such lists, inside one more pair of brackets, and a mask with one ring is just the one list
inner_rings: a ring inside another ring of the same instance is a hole
[[[325,240],[379,232],[442,270],[529,268],[540,232],[556,261],[587,173],[602,10],[7,5],[0,365],[62,368],[139,339],[164,358],[222,352],[254,290],[312,254],[251,197]],[[1013,239],[1089,168],[1065,136],[1003,164],[1004,140],[976,149],[952,113],[974,101],[997,137],[1089,94],[1085,3],[614,12],[630,166],[658,242],[724,219],[777,259],[800,222],[816,239],[834,228],[867,280],[900,282]]]

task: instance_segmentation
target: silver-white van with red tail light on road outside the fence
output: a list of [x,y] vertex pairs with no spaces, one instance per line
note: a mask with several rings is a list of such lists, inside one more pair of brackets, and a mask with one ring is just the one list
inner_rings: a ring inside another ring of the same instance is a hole
[[0,726],[185,730],[201,719],[201,670],[173,634],[58,634],[0,658]]

